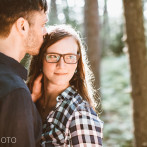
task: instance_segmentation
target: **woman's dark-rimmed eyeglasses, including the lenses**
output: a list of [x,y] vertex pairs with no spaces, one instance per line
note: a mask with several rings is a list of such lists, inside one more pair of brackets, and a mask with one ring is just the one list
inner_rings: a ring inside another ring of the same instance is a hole
[[46,53],[45,59],[48,63],[57,63],[60,58],[63,57],[64,62],[67,64],[76,64],[80,58],[80,54],[58,54],[58,53]]

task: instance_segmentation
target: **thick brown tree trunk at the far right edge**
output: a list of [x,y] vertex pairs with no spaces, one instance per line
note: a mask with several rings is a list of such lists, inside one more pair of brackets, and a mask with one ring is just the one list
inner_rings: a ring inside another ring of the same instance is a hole
[[141,0],[123,0],[131,68],[134,136],[147,147],[147,59]]

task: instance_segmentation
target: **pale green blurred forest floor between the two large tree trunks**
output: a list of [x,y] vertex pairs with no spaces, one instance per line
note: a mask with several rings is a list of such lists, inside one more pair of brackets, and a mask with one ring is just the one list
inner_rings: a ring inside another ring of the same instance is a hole
[[104,121],[104,146],[132,147],[133,124],[128,59],[105,57],[102,60],[101,92]]

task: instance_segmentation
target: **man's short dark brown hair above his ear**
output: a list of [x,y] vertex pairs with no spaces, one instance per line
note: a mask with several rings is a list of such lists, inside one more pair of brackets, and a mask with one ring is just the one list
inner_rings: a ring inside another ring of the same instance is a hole
[[47,0],[0,0],[0,36],[7,37],[18,18],[30,23],[29,14],[42,10],[47,11]]

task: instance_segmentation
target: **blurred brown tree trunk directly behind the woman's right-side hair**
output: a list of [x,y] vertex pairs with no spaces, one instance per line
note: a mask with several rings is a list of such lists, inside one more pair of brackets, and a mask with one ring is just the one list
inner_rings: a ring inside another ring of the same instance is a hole
[[99,47],[99,15],[97,0],[85,0],[84,22],[88,58],[95,76],[96,88],[99,88],[101,51]]

